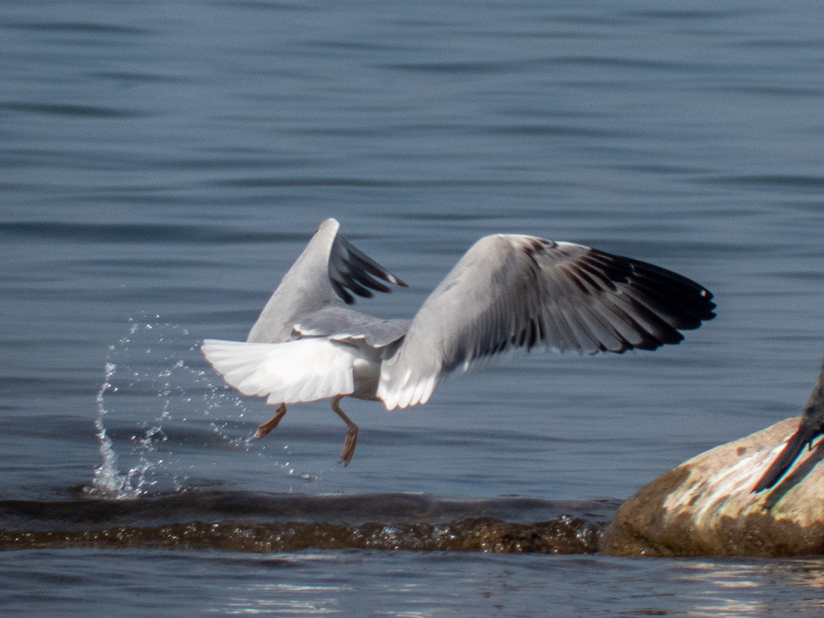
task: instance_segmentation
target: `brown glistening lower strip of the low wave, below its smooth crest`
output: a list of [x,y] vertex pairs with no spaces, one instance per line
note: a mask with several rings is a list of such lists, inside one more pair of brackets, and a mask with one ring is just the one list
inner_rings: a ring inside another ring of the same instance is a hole
[[583,554],[602,527],[578,518],[513,523],[494,517],[460,522],[351,526],[331,522],[181,522],[95,530],[0,530],[0,551],[66,547],[163,547],[224,551],[416,550]]

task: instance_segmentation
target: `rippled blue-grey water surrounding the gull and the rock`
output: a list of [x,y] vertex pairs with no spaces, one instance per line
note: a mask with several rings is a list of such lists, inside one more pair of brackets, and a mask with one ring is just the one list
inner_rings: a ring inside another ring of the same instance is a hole
[[[814,2],[3,2],[2,613],[820,611],[814,558],[580,552],[808,396],[821,25]],[[344,468],[324,403],[252,440],[270,411],[197,351],[245,335],[330,216],[410,283],[377,315],[528,232],[675,269],[719,317],[412,410],[344,400]]]

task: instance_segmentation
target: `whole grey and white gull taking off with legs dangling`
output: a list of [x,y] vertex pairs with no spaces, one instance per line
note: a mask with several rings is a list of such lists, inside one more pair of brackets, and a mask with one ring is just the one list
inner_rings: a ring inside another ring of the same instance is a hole
[[571,242],[494,234],[466,251],[412,320],[383,320],[349,307],[354,297],[406,283],[338,230],[333,218],[321,223],[245,342],[206,339],[201,351],[229,386],[277,405],[256,438],[287,405],[330,399],[348,427],[344,466],[358,441],[344,396],[386,410],[425,404],[442,377],[516,349],[651,350],[715,316],[713,295],[670,270]]

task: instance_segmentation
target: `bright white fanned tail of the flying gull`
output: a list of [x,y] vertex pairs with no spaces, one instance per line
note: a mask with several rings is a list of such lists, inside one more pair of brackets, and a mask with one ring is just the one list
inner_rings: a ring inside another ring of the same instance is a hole
[[349,395],[353,355],[328,339],[255,344],[206,339],[206,360],[229,386],[269,404],[299,403]]

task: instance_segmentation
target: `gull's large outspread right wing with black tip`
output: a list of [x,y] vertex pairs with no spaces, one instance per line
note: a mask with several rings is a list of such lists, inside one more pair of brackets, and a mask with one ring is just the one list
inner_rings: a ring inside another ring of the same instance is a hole
[[387,410],[438,378],[515,348],[625,352],[677,344],[712,319],[712,294],[667,269],[536,236],[485,236],[424,302],[382,366]]

